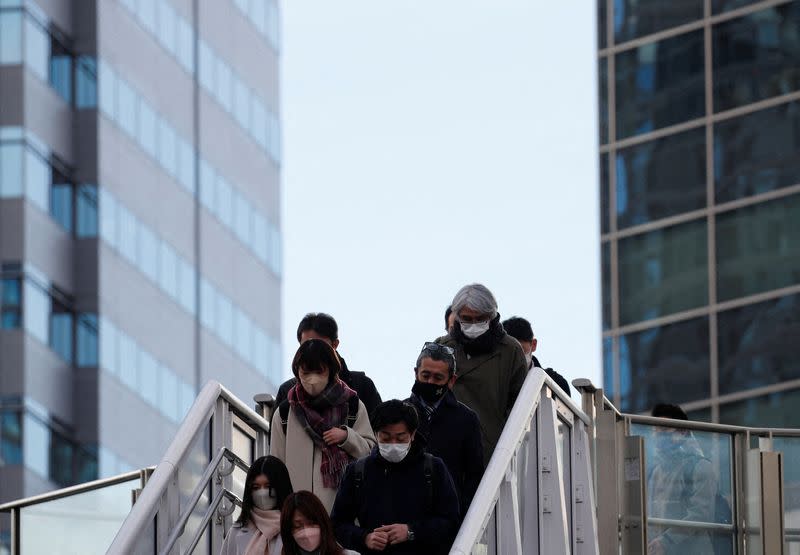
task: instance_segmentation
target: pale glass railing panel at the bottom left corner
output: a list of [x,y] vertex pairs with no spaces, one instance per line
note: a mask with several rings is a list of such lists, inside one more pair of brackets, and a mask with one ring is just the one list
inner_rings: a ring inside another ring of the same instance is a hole
[[105,553],[139,487],[137,478],[21,508],[21,555],[53,553],[54,545],[59,553]]

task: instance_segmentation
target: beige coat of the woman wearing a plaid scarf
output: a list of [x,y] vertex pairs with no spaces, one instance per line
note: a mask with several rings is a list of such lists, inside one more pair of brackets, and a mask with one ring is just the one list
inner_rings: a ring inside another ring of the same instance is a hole
[[[364,457],[375,446],[375,435],[369,424],[369,415],[364,403],[358,402],[358,416],[354,428],[347,428],[347,439],[340,445],[352,459]],[[333,508],[336,490],[322,485],[322,450],[314,445],[311,437],[303,429],[295,416],[294,408],[289,408],[286,433],[281,426],[278,411],[272,416],[272,443],[269,454],[278,457],[289,469],[294,491],[307,490],[319,497],[328,513]]]

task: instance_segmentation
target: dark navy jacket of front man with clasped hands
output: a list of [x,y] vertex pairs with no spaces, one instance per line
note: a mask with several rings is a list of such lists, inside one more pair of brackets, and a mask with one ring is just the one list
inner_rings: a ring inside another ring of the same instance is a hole
[[[387,462],[375,448],[366,458],[363,482],[357,493],[355,463],[351,463],[344,472],[331,511],[339,543],[362,555],[448,553],[458,531],[458,497],[442,460],[432,459],[430,510],[423,448],[416,441],[399,463]],[[356,519],[359,525],[355,524]],[[408,524],[415,539],[387,546],[380,552],[367,549],[364,544],[367,534],[387,524]]]

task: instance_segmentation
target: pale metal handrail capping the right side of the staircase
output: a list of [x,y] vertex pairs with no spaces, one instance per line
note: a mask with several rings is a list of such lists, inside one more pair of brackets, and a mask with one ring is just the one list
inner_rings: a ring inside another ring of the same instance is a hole
[[[541,391],[545,385],[558,394],[560,387],[544,371],[528,372],[514,407],[511,409],[511,414],[503,427],[503,433],[492,453],[492,458],[483,473],[483,479],[478,485],[475,497],[473,497],[464,522],[458,531],[458,536],[453,542],[451,554],[472,553],[473,546],[480,538],[492,515],[500,486],[505,479],[517,447],[522,442],[525,431],[539,407]],[[575,408],[574,403],[567,404],[581,420],[589,421],[583,411]]]

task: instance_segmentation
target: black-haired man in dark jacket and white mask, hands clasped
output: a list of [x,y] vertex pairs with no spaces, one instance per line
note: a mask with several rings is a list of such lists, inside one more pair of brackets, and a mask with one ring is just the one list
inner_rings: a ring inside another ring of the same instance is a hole
[[442,460],[424,452],[417,411],[393,399],[373,416],[378,448],[345,471],[331,513],[336,537],[363,555],[447,553],[458,497]]

